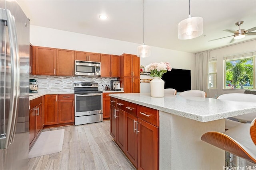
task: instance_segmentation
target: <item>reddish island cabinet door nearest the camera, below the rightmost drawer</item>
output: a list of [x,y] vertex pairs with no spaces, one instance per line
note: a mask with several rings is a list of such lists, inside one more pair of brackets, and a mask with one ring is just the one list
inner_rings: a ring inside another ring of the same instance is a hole
[[157,170],[159,127],[138,119],[138,131],[138,169]]

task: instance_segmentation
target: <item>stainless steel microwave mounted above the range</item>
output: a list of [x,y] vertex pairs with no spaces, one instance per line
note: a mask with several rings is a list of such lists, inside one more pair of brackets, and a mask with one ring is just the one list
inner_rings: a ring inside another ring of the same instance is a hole
[[75,60],[75,75],[100,76],[100,62]]

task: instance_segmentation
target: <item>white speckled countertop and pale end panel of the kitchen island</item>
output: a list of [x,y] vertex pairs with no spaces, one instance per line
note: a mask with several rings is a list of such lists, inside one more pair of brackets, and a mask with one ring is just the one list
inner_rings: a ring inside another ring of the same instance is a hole
[[224,150],[201,141],[208,131],[225,131],[226,117],[256,111],[256,104],[150,93],[111,97],[159,111],[159,169],[223,169]]

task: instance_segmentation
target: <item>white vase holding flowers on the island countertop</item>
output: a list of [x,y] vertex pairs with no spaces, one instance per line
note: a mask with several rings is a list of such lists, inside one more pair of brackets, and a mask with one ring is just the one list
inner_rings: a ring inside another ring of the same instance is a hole
[[164,80],[160,77],[153,77],[150,81],[150,96],[155,98],[164,97]]

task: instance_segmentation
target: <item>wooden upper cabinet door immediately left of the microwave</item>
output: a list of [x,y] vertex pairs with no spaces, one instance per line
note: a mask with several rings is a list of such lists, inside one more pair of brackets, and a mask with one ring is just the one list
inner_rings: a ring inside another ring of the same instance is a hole
[[56,49],[56,75],[74,75],[74,51]]

